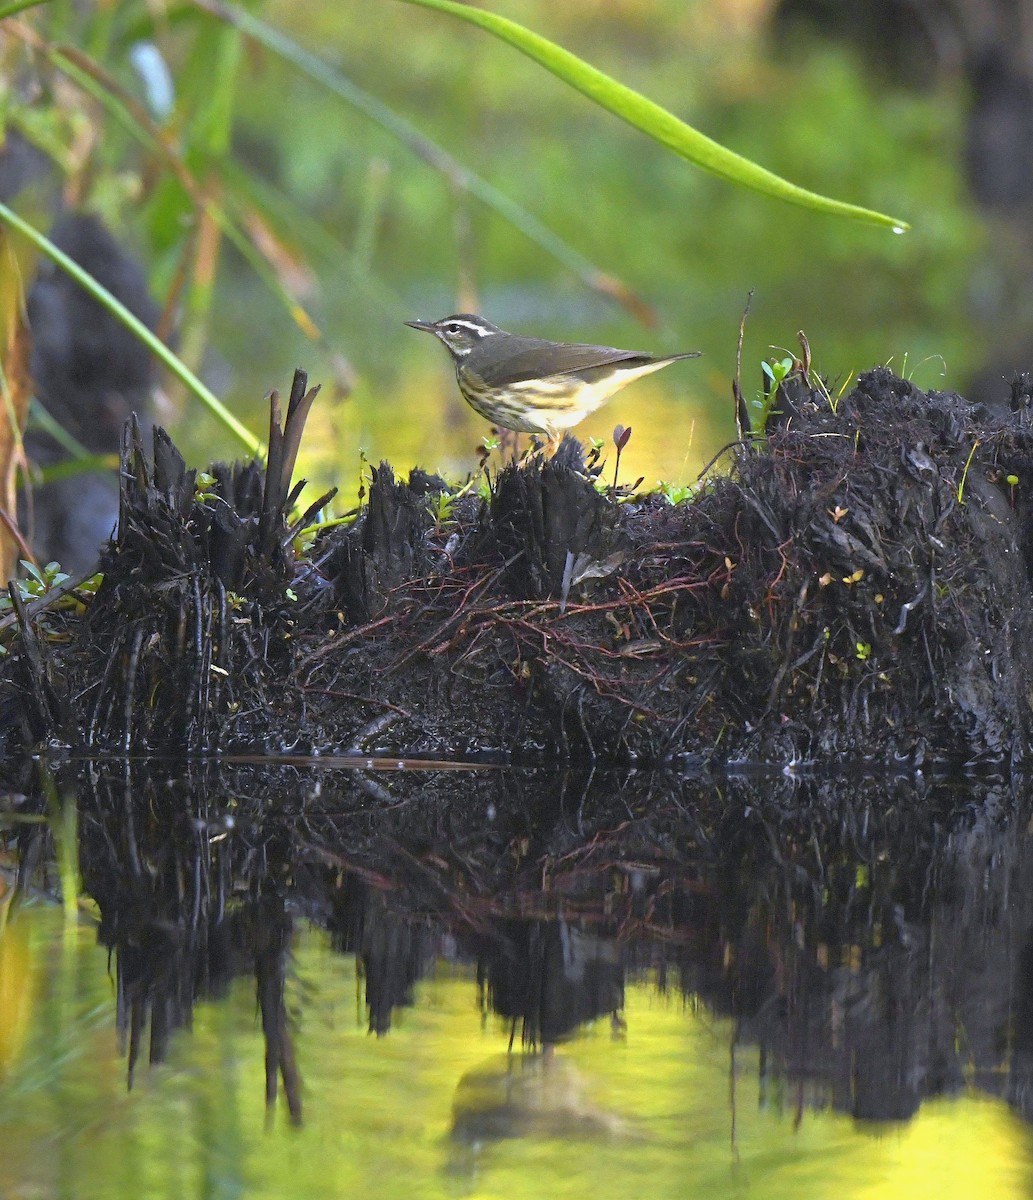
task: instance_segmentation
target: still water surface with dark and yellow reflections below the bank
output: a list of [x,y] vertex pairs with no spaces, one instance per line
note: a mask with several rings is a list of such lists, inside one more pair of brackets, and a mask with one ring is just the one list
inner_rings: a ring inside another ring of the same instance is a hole
[[1011,780],[65,763],[0,812],[5,1200],[1033,1189]]

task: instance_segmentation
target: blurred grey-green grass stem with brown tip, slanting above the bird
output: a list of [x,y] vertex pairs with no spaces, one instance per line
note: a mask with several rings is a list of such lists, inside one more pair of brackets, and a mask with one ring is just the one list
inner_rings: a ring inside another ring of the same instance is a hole
[[280,30],[274,29],[242,8],[226,4],[223,0],[192,0],[192,2],[210,16],[236,25],[253,41],[277,54],[287,62],[293,64],[299,71],[308,76],[310,79],[358,109],[365,116],[368,116],[370,120],[401,142],[418,158],[421,158],[440,175],[444,175],[454,187],[468,192],[479,199],[484,205],[514,226],[514,228],[519,229],[536,246],[546,251],[546,253],[552,254],[557,262],[576,275],[585,287],[608,296],[611,300],[615,300],[644,324],[655,324],[656,318],[651,308],[621,280],[608,275],[593,262],[584,258],[564,241],[563,238],[542,224],[537,217],[528,212],[527,209],[511,200],[505,193],[498,191],[486,179],[481,179],[480,175],[463,166],[448,150],[444,150],[436,142],[425,137],[404,116],[400,116],[383,101],[376,96],[371,96],[370,92],[353,83],[336,67],[324,62],[314,54],[310,54],[298,46],[296,42],[293,42],[284,34],[280,32]]

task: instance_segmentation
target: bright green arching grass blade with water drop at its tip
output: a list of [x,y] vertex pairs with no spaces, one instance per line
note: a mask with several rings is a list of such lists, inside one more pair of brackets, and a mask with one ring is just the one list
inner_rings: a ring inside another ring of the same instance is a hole
[[614,116],[627,121],[629,125],[647,133],[661,145],[721,179],[751,187],[765,196],[773,196],[791,204],[800,204],[817,212],[888,226],[894,233],[903,233],[911,228],[906,221],[901,221],[899,217],[890,217],[857,204],[846,204],[843,200],[834,200],[828,196],[819,196],[817,192],[791,184],[774,172],[720,145],[713,138],[708,138],[705,133],[693,130],[691,125],[686,125],[685,121],[648,100],[641,92],[618,83],[612,76],[597,70],[576,54],[571,54],[570,50],[563,49],[547,37],[518,25],[515,20],[486,12],[484,8],[470,8],[467,5],[456,4],[455,0],[404,0],[404,2],[458,17],[461,20],[487,30],[502,41],[509,42],[510,46],[534,59],[546,71],[551,71],[601,108],[608,109]]

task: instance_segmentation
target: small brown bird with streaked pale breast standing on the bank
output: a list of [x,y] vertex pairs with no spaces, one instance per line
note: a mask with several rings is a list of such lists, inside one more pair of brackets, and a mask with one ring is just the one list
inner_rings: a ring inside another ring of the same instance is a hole
[[655,358],[613,346],[518,337],[472,313],[406,324],[444,343],[474,412],[504,430],[548,438],[583,421],[632,379],[699,354]]

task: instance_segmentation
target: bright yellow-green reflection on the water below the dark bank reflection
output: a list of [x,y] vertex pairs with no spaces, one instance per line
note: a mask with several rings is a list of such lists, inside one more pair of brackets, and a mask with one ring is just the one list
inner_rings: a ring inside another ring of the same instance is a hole
[[52,953],[34,956],[37,1000],[0,1092],[5,1198],[1028,1194],[1031,1133],[1003,1103],[935,1100],[877,1130],[829,1109],[798,1121],[791,1088],[759,1086],[756,1051],[739,1046],[733,1073],[729,1022],[648,983],[627,989],[623,1034],[597,1021],[551,1061],[506,1055],[467,968],[439,966],[371,1037],[354,960],[311,931],[288,984],[300,1129],[266,1120],[246,978],[197,1006],[127,1093],[106,952],[84,928],[58,953],[56,911],[17,919]]

